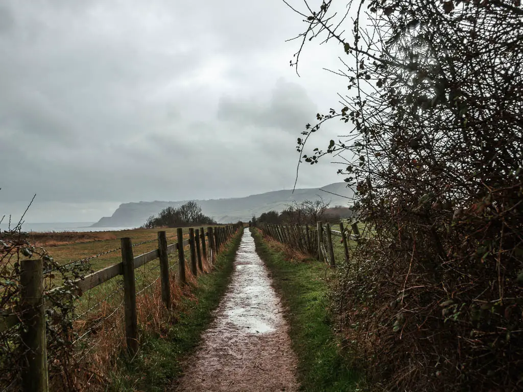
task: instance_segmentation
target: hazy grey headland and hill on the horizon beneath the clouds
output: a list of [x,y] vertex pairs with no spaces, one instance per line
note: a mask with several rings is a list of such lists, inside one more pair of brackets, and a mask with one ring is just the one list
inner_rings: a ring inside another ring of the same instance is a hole
[[[316,200],[321,196],[324,201],[335,205],[347,206],[352,201],[353,192],[346,187],[346,183],[337,182],[322,187],[321,189],[336,193],[321,191],[319,188],[273,191],[254,194],[245,198],[197,200],[201,205],[203,214],[211,216],[218,223],[231,223],[237,221],[248,222],[253,215],[271,210],[281,212],[292,201]],[[343,197],[345,196],[345,198]],[[138,203],[123,203],[112,216],[105,216],[91,227],[139,227],[148,217],[156,215],[167,206],[178,207],[183,201],[141,201]]]

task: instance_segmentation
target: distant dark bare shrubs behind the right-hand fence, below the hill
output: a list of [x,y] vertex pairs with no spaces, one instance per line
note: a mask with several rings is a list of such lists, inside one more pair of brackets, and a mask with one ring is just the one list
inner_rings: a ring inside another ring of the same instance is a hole
[[322,198],[302,202],[294,201],[287,205],[282,212],[268,211],[253,216],[251,224],[256,226],[259,223],[268,224],[298,224],[298,225],[316,225],[316,222],[339,223],[341,220],[353,216],[353,209],[336,205],[329,207],[329,203]]

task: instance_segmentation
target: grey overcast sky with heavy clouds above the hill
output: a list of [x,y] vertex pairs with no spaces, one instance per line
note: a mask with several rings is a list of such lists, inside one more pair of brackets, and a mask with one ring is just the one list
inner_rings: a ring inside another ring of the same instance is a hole
[[[300,131],[346,90],[322,70],[339,45],[289,66],[303,28],[281,0],[2,0],[0,215],[34,193],[27,222],[292,188]],[[298,187],[337,181],[307,165]]]

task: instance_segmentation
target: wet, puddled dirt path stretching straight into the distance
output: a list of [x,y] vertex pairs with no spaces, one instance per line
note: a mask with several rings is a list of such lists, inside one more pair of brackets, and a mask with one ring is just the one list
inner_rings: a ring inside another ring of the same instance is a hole
[[245,230],[231,285],[177,391],[297,391],[279,298]]

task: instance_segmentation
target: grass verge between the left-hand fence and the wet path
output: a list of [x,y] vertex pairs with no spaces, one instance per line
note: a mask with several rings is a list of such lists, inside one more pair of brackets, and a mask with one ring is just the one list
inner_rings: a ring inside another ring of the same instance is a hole
[[214,270],[198,277],[192,290],[194,298],[182,299],[177,320],[164,337],[146,335],[132,361],[125,356],[119,359],[119,371],[113,374],[107,391],[164,391],[176,381],[184,361],[195,351],[201,333],[212,321],[212,310],[226,291],[240,241],[241,230],[220,253]]

